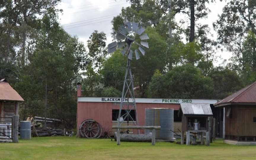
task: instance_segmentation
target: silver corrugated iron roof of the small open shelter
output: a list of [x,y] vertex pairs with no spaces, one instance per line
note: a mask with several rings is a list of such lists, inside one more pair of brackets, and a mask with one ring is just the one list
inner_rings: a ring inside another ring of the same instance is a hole
[[212,115],[210,104],[181,103],[180,108],[184,115]]

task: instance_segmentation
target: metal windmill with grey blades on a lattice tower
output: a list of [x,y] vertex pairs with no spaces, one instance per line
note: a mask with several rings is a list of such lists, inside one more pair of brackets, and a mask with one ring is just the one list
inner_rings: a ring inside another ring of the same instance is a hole
[[[121,25],[118,29],[116,39],[117,42],[114,41],[108,45],[108,53],[113,53],[117,48],[121,49],[121,53],[123,56],[127,56],[127,66],[124,77],[124,85],[122,91],[122,98],[119,107],[118,114],[118,125],[120,126],[124,120],[127,118],[127,124],[129,125],[129,119],[133,121],[134,125],[138,125],[138,116],[136,110],[136,102],[134,95],[134,86],[133,86],[133,76],[131,70],[131,61],[133,59],[133,53],[135,53],[136,60],[140,59],[140,53],[145,55],[145,48],[148,47],[148,43],[146,41],[140,41],[140,43],[135,41],[135,37],[137,35],[140,36],[140,40],[148,40],[149,37],[147,34],[143,34],[145,28],[139,27],[139,24],[136,22],[126,22],[125,25]],[[131,49],[132,44],[137,45],[137,49],[133,52]],[[131,100],[132,102],[129,102]],[[125,107],[124,107],[125,106]],[[126,107],[127,106],[127,107]],[[125,113],[122,113],[122,109],[125,110]],[[132,117],[131,111],[135,111],[135,120]]]

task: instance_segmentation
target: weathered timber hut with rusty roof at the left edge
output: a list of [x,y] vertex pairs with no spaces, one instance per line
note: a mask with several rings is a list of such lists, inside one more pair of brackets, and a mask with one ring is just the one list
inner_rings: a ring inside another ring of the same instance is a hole
[[0,113],[1,121],[19,114],[19,102],[24,99],[10,86],[6,79],[0,80]]

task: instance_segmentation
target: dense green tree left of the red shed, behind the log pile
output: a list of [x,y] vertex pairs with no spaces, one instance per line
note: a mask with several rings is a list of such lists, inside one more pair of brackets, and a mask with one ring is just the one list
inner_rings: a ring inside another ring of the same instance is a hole
[[[79,70],[87,66],[84,45],[71,37],[57,22],[56,12],[42,18],[30,63],[23,67],[15,88],[25,99],[25,116],[39,115],[76,122],[74,83]],[[43,105],[44,104],[44,105]],[[66,111],[69,111],[66,113]]]

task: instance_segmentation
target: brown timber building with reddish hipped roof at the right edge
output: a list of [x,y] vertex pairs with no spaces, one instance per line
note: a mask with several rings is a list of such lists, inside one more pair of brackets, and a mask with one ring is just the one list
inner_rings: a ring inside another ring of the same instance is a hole
[[223,109],[225,143],[256,145],[256,82],[217,102]]

